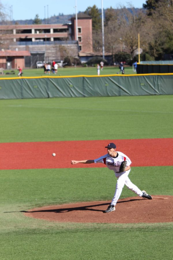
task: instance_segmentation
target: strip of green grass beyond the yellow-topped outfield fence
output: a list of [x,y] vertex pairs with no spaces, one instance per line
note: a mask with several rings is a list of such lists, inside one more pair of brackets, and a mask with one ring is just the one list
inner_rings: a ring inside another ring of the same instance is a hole
[[[0,75],[0,78],[5,77],[18,77],[18,70],[14,70],[15,74],[8,75],[6,73],[11,73],[12,70],[4,70],[4,75]],[[39,69],[24,69],[23,77],[39,77],[46,76],[44,74],[43,68]],[[120,73],[118,66],[105,66],[104,69],[100,70],[100,75],[114,75]],[[125,74],[136,74],[133,72],[132,67],[125,67]],[[50,74],[51,76],[74,76],[74,75],[97,75],[96,67],[64,67],[58,68],[57,75]]]

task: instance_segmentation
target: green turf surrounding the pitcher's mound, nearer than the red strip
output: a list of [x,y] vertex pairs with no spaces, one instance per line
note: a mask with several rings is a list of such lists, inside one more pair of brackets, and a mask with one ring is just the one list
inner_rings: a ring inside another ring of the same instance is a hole
[[[172,170],[135,167],[130,178],[153,195],[173,195]],[[21,212],[42,205],[110,200],[116,178],[106,168],[2,170],[0,176],[0,259],[171,259],[172,223],[59,223]],[[131,195],[125,187],[121,198]]]

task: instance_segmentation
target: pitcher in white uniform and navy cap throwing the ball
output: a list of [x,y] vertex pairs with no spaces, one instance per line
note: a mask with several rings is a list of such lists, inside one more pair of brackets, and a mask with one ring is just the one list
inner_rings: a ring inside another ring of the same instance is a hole
[[[105,146],[105,148],[108,149],[108,153],[99,157],[98,159],[71,161],[71,164],[102,163],[105,164],[110,170],[113,170],[115,172],[115,176],[118,178],[116,183],[115,194],[112,198],[112,202],[104,212],[108,213],[115,210],[115,205],[121,195],[124,185],[126,185],[131,191],[135,192],[138,196],[151,200],[152,197],[149,194],[147,194],[146,191],[141,191],[135,184],[133,184],[130,181],[128,175],[130,173],[131,160],[129,159],[129,157],[127,157],[124,153],[116,152],[116,145],[114,143],[109,143],[108,146]],[[121,162],[123,161],[126,161],[126,168],[123,172],[120,172]]]

